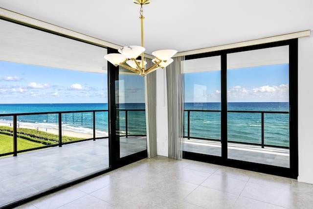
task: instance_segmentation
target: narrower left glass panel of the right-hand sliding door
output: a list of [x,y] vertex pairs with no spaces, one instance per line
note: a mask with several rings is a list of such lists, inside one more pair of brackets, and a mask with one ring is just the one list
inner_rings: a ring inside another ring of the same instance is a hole
[[183,151],[221,155],[221,57],[184,61]]

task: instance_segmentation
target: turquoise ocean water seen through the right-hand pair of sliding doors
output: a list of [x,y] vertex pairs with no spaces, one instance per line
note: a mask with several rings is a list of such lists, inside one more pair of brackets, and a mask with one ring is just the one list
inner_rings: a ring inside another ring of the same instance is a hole
[[[221,110],[221,103],[185,103],[185,110]],[[232,111],[288,112],[288,102],[234,102]],[[187,136],[187,112],[184,115],[184,135]],[[227,113],[227,140],[261,143],[261,113]],[[220,112],[190,112],[190,137],[221,139]],[[264,142],[289,146],[289,114],[264,114]]]

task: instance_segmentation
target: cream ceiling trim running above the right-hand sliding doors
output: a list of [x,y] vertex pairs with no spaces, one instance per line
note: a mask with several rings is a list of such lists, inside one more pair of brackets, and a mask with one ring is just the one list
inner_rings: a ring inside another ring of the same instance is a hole
[[285,41],[285,40],[302,38],[302,37],[307,37],[307,36],[311,36],[311,30],[304,30],[304,31],[299,31],[299,32],[294,32],[294,33],[288,33],[288,34],[283,34],[283,35],[278,35],[278,36],[271,36],[267,38],[254,39],[250,41],[244,41],[244,42],[238,42],[238,43],[232,43],[232,44],[226,44],[226,45],[220,45],[220,46],[212,46],[212,47],[207,47],[207,48],[182,51],[182,52],[178,52],[177,54],[175,54],[174,57],[201,54],[201,53],[206,53],[206,52],[220,51],[220,50],[239,48],[239,47],[244,47],[244,46],[267,44],[267,43]]

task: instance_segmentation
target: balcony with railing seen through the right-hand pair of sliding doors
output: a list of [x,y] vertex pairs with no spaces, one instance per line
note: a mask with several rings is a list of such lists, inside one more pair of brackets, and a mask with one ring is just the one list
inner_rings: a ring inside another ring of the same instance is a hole
[[[211,122],[220,114],[219,110],[185,110],[183,150],[221,157],[220,120]],[[227,114],[228,159],[290,167],[289,112],[227,111]],[[244,119],[240,121],[241,118]],[[273,118],[280,120],[280,130],[275,130],[277,133],[271,131]],[[201,123],[206,124],[201,126]]]

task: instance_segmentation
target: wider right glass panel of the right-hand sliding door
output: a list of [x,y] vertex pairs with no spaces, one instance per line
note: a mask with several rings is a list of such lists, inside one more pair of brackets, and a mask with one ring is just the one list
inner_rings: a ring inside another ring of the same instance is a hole
[[228,159],[290,167],[289,46],[227,54]]

